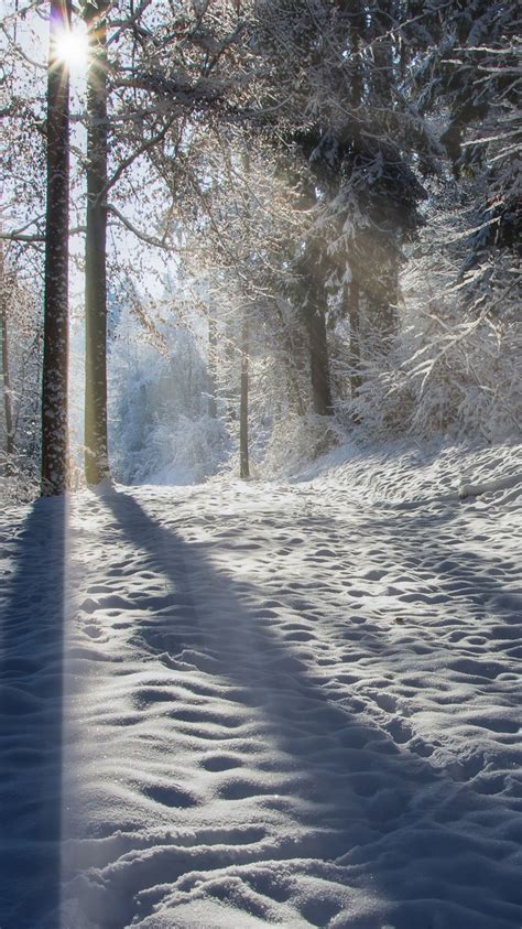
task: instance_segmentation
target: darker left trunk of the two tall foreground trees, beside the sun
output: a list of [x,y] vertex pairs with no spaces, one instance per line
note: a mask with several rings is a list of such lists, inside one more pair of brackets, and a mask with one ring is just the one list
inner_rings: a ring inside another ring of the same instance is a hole
[[43,496],[67,487],[69,78],[57,40],[70,28],[70,0],[51,0],[47,71],[47,199],[45,214],[42,378]]

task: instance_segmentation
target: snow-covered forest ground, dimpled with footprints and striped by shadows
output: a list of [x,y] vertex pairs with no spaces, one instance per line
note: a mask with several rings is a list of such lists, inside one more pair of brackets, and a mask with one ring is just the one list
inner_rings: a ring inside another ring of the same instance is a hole
[[1,929],[520,929],[521,460],[346,454],[4,512]]

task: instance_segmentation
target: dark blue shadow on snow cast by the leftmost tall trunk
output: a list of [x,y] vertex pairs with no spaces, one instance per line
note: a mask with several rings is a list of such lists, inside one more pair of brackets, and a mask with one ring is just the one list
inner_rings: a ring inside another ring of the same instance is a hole
[[65,507],[31,506],[0,601],[2,929],[59,926]]

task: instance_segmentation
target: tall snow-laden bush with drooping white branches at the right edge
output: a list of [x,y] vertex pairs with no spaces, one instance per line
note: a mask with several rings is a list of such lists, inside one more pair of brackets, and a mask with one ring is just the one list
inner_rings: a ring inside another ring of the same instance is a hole
[[483,220],[475,190],[468,199],[465,208],[434,196],[402,276],[391,350],[365,345],[362,386],[340,402],[374,434],[496,442],[522,433],[520,269],[512,244],[482,242],[494,217]]

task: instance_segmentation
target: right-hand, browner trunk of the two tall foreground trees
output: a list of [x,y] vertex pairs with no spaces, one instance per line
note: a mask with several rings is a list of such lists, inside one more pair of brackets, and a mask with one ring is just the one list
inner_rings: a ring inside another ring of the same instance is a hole
[[87,230],[85,242],[85,476],[110,478],[107,441],[107,31],[108,3],[88,3]]

